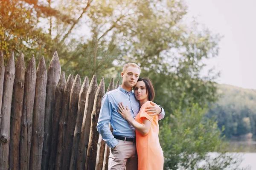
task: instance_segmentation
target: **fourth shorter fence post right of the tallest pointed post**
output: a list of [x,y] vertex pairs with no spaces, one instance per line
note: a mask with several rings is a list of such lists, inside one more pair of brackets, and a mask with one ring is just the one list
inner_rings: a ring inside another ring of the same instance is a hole
[[79,103],[78,103],[78,111],[76,116],[76,128],[74,132],[74,139],[73,139],[73,147],[70,159],[70,170],[76,170],[76,161],[77,161],[77,154],[79,143],[81,139],[81,126],[83,123],[84,117],[84,108],[85,108],[85,101],[86,95],[89,88],[89,79],[85,77],[80,94],[79,94]]

